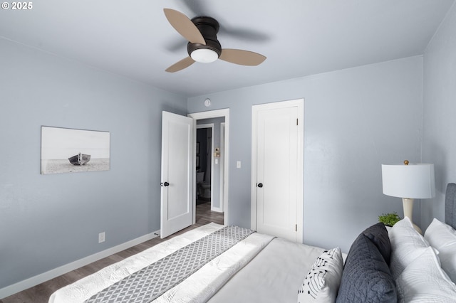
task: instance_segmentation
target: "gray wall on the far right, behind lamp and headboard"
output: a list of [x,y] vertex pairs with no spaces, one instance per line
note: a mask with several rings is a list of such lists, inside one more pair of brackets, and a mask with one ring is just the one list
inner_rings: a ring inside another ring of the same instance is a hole
[[456,182],[456,5],[424,55],[423,162],[435,164],[435,198],[421,201],[423,226],[445,219],[445,190]]

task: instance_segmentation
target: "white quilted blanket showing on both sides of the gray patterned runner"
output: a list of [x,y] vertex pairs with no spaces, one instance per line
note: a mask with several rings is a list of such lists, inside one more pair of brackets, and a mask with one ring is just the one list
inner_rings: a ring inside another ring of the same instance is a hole
[[[81,303],[97,292],[105,289],[124,277],[137,272],[142,267],[160,260],[162,257],[203,238],[223,225],[209,223],[195,230],[171,238],[148,250],[103,268],[93,275],[58,289],[49,298],[49,303]],[[204,302],[222,287],[229,277],[258,254],[274,237],[254,233],[234,245],[224,254],[214,258],[180,285],[168,290],[154,302]]]

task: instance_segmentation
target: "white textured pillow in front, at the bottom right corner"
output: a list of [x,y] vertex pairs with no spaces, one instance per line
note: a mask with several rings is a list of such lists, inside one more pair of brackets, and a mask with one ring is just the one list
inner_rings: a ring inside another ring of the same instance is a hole
[[452,302],[456,300],[456,285],[440,268],[435,251],[425,248],[405,268],[396,280],[398,302]]

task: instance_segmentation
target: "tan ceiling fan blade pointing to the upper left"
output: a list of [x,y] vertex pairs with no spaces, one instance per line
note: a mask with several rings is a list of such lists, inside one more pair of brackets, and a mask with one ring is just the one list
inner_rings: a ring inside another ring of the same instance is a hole
[[195,24],[180,11],[174,9],[163,9],[165,16],[173,28],[191,43],[200,43],[204,46],[206,41]]

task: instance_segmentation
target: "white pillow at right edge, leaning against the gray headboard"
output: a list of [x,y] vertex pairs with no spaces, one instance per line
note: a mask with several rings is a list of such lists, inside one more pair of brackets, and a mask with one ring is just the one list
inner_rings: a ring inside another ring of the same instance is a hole
[[425,232],[425,239],[439,251],[442,269],[456,282],[456,230],[434,218]]

